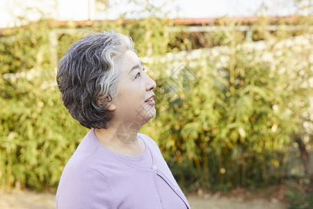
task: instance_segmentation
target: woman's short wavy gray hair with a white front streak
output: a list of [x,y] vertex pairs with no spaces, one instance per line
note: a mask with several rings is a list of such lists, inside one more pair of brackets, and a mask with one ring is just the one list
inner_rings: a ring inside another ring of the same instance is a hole
[[127,50],[135,51],[130,37],[104,31],[74,42],[58,62],[61,100],[84,127],[109,128],[109,102],[118,98],[121,58]]

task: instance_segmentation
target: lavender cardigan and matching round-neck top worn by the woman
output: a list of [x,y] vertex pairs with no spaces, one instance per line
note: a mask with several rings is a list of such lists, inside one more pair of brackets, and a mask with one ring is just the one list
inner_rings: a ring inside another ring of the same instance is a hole
[[120,155],[84,137],[63,170],[56,208],[190,208],[157,144],[145,134],[145,152]]

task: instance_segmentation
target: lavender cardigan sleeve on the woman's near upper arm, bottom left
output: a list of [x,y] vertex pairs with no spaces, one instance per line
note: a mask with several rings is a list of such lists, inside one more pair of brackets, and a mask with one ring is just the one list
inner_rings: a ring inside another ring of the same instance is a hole
[[76,167],[58,188],[58,209],[118,208],[106,177],[88,167]]

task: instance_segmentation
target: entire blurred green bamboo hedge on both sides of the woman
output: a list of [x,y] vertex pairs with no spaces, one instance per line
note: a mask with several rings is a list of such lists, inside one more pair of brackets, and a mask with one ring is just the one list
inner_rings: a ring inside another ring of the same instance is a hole
[[[236,24],[221,24],[227,29],[179,33],[170,31],[171,20],[147,17],[127,24],[122,18],[96,22],[92,27],[40,21],[4,30],[0,187],[56,188],[65,163],[88,132],[60,101],[56,59],[79,38],[111,29],[131,36],[139,56],[150,60],[145,65],[158,85],[157,116],[141,132],[157,141],[184,189],[280,183],[294,134],[307,135],[303,123],[312,123],[307,114],[312,44],[284,42],[307,31],[285,33],[282,27],[272,33],[262,20],[252,38],[267,42],[257,49],[235,30]],[[213,46],[219,47],[195,59],[186,53],[164,60],[167,52]]]

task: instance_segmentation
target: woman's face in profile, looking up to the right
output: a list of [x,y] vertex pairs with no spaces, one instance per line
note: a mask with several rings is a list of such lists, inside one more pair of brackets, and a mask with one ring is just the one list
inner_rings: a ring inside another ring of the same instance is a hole
[[[144,72],[141,60],[128,50],[122,57],[122,76],[118,81],[118,100],[114,102],[114,118],[119,123],[127,121],[141,125],[156,114],[154,100],[155,82]],[[148,101],[147,101],[148,100]]]

